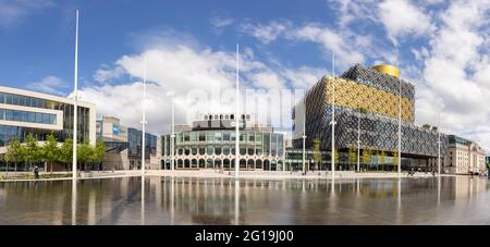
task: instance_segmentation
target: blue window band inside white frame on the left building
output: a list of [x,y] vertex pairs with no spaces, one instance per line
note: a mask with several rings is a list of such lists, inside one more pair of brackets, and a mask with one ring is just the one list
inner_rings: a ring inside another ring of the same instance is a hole
[[57,124],[57,115],[49,113],[0,109],[0,120],[26,123]]

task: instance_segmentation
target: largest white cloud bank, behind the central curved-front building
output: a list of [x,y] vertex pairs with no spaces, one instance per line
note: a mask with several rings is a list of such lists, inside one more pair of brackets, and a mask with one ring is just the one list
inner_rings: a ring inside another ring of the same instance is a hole
[[[308,78],[315,69],[302,67],[301,76],[293,76],[294,69],[271,69],[253,59],[253,50],[241,54],[241,89],[246,103],[242,108],[257,115],[259,122],[270,122],[281,128],[291,127],[292,90],[287,85]],[[131,126],[139,126],[142,77],[144,60],[147,64],[147,118],[148,129],[167,133],[170,124],[170,91],[175,91],[176,123],[189,123],[209,112],[234,112],[235,108],[235,53],[213,51],[209,48],[188,47],[179,44],[161,44],[134,55],[123,55],[112,71],[96,73],[108,78],[100,86],[88,86],[79,96],[96,103],[99,115],[114,115]],[[111,76],[124,72],[123,78],[137,82],[112,85]],[[102,75],[103,74],[103,75]],[[298,78],[299,77],[299,78]],[[310,76],[315,77],[315,76]],[[315,78],[313,81],[318,81]],[[278,109],[281,109],[278,111]]]

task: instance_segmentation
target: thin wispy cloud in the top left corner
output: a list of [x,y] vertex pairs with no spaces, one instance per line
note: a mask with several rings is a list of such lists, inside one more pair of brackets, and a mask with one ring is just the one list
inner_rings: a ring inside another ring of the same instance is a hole
[[0,0],[0,28],[15,26],[33,12],[53,5],[51,0]]

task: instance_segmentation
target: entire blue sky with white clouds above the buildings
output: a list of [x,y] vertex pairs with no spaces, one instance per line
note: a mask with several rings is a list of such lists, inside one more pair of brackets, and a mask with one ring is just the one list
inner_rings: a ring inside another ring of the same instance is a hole
[[[81,11],[81,98],[126,125],[170,129],[234,110],[236,44],[244,111],[280,129],[322,75],[390,63],[416,87],[416,123],[490,150],[490,0],[0,0],[0,84],[69,96]],[[146,67],[146,70],[145,70]],[[173,97],[172,97],[173,96]]]

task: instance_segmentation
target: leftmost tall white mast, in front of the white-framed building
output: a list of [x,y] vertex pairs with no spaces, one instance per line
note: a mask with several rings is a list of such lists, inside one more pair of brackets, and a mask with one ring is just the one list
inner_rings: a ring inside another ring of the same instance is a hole
[[74,76],[74,104],[73,104],[73,161],[72,178],[76,180],[76,145],[77,145],[77,114],[78,114],[78,10],[76,10],[76,35],[75,35],[75,76]]

